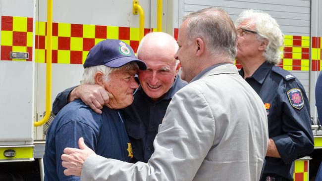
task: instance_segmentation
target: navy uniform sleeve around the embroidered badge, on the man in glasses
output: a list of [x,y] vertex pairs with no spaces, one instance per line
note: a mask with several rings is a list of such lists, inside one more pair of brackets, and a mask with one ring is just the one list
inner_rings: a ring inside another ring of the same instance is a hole
[[[287,91],[299,89],[304,105],[298,109],[292,105]],[[278,153],[284,163],[310,154],[314,149],[314,138],[311,128],[310,105],[305,90],[297,80],[289,83],[279,92],[282,108],[282,132],[284,135],[271,137],[277,147]]]

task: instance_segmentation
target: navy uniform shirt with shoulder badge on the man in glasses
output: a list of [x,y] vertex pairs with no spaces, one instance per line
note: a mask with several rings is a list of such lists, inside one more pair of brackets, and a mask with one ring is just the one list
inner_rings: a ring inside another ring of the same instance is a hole
[[[239,74],[244,77],[243,69]],[[265,104],[268,136],[274,140],[281,156],[266,157],[263,176],[293,180],[293,161],[310,154],[314,149],[309,100],[305,90],[288,71],[267,62],[245,80]]]

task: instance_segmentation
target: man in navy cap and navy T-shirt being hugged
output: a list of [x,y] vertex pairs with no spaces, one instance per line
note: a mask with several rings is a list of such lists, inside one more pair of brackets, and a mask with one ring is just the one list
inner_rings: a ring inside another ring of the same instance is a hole
[[81,83],[102,86],[112,96],[102,114],[80,99],[70,102],[57,114],[46,138],[45,181],[80,180],[63,174],[60,158],[65,147],[78,147],[80,137],[103,157],[122,161],[133,157],[118,109],[133,102],[133,91],[138,88],[134,75],[138,69],[145,70],[146,64],[124,42],[104,40],[90,50],[84,68]]

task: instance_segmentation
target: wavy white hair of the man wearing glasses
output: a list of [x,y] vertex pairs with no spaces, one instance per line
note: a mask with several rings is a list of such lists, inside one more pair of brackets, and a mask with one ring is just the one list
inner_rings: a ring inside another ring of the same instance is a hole
[[276,20],[264,11],[246,9],[238,16],[235,24],[238,26],[239,23],[247,19],[254,20],[258,40],[268,41],[263,53],[266,61],[277,65],[281,59],[280,47],[283,46],[284,36]]

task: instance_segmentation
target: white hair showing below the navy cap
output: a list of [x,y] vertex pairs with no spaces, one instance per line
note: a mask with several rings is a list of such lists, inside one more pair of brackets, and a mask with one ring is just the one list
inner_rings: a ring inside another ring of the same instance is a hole
[[127,70],[137,70],[139,69],[139,66],[137,63],[135,62],[130,62],[127,63],[121,67],[117,67],[117,68],[111,68],[111,67],[107,67],[105,65],[96,65],[96,66],[92,66],[92,67],[86,67],[84,69],[83,72],[83,78],[80,81],[81,84],[95,84],[95,74],[97,72],[102,72],[104,75],[104,79],[106,82],[109,81],[109,75],[116,70],[121,70],[123,69],[124,71]]

